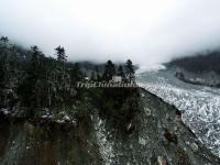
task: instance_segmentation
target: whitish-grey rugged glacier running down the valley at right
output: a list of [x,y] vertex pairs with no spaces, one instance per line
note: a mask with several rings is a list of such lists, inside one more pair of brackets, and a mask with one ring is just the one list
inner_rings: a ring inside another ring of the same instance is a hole
[[178,108],[185,124],[220,157],[220,89],[183,82],[167,69],[140,73],[136,81]]

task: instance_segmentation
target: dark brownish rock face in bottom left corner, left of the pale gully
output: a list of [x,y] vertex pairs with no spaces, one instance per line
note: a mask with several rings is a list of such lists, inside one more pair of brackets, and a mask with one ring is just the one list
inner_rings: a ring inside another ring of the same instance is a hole
[[[53,131],[53,132],[52,132]],[[1,165],[101,164],[98,150],[75,138],[75,131],[47,131],[32,123],[0,124]]]

